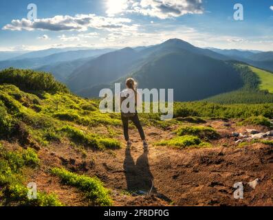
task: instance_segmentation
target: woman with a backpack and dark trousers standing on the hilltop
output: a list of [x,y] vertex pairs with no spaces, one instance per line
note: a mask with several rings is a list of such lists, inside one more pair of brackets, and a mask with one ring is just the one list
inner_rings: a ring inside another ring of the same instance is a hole
[[[121,119],[122,119],[122,124],[123,124],[124,137],[125,137],[125,140],[127,141],[127,146],[130,147],[132,143],[129,140],[128,122],[129,122],[129,120],[131,120],[133,122],[133,124],[135,124],[135,126],[137,127],[138,132],[140,133],[140,137],[142,139],[144,148],[147,148],[148,144],[146,142],[145,134],[144,134],[144,131],[143,131],[142,126],[140,124],[140,119],[138,118],[138,111],[136,111],[136,107],[138,106],[138,104],[141,104],[140,103],[140,94],[137,91],[136,86],[137,86],[137,83],[135,82],[135,80],[133,78],[128,78],[126,80],[127,89],[124,89],[120,93]],[[128,100],[127,100],[127,98],[128,98]],[[124,106],[124,104],[122,104],[122,102],[124,102],[124,100],[128,101],[126,106]],[[131,109],[129,108],[129,112],[127,112],[128,111],[128,109],[127,109],[128,104],[130,104],[130,103],[134,104],[133,111],[130,111]],[[127,111],[125,111],[125,109],[127,109]]]

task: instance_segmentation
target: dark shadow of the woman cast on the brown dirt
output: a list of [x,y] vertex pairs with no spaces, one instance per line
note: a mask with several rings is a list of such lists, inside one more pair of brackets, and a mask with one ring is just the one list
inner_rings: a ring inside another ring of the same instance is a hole
[[127,148],[124,159],[124,173],[127,180],[127,190],[130,192],[157,193],[153,186],[153,175],[148,160],[148,148],[138,157],[136,163],[131,156],[131,149]]

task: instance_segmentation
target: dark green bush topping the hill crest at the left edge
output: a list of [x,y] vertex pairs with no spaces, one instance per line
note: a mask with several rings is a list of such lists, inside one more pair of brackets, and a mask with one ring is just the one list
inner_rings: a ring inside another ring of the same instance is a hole
[[47,91],[50,93],[69,92],[65,85],[58,83],[52,74],[31,69],[4,69],[0,72],[0,84],[16,85],[23,91]]

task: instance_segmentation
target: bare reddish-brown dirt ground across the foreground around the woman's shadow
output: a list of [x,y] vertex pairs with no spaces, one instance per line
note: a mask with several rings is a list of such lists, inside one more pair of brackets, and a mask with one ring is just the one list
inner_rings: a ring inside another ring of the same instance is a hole
[[[65,166],[80,174],[99,177],[111,189],[115,206],[272,206],[272,146],[232,146],[234,140],[225,136],[232,127],[224,129],[220,122],[212,124],[223,135],[212,148],[179,150],[154,146],[153,143],[173,135],[155,127],[144,129],[151,143],[149,151],[144,151],[135,129],[129,132],[131,148],[88,150],[87,157],[65,143],[54,145],[41,150],[42,174],[32,178],[42,190],[56,192],[67,205],[87,204],[80,192],[62,186],[56,177],[49,175],[49,166]],[[120,140],[123,142],[122,135]],[[224,147],[224,142],[228,146]],[[261,182],[253,190],[247,183],[256,178]],[[237,200],[232,186],[240,181],[245,193],[244,199]]]

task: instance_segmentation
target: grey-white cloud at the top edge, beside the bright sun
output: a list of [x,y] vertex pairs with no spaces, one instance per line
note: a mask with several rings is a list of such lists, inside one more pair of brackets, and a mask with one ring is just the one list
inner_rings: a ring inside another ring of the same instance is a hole
[[[202,14],[203,0],[108,0],[108,14],[126,11],[168,19],[184,14]],[[111,6],[111,7],[110,7]],[[111,13],[110,13],[111,12]]]

